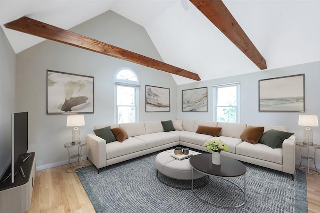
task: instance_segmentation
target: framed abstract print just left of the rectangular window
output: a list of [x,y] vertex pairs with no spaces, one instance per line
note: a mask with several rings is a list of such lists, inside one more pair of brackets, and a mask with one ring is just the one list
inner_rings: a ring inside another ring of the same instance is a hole
[[182,90],[182,112],[207,112],[208,88]]

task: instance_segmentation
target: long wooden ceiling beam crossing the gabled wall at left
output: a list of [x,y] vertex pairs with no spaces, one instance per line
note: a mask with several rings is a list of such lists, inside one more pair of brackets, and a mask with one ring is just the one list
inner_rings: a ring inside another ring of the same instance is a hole
[[35,35],[38,37],[46,38],[49,40],[57,41],[60,43],[119,58],[122,60],[130,61],[143,66],[190,78],[196,81],[201,80],[199,75],[196,73],[128,51],[126,49],[113,46],[111,44],[103,43],[93,38],[89,38],[46,23],[42,23],[40,21],[25,16],[7,24],[4,24],[4,26],[9,29],[17,30],[27,34]]

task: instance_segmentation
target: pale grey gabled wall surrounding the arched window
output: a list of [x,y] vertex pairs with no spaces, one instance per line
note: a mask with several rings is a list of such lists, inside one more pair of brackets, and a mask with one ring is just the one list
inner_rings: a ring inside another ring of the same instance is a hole
[[[112,11],[70,31],[162,60],[143,27]],[[114,75],[120,67],[130,67],[139,77],[140,121],[176,117],[176,84],[169,73],[54,41],[44,41],[17,54],[16,108],[29,112],[29,151],[36,152],[37,169],[67,163],[63,145],[71,140],[72,131],[72,127],[66,127],[67,115],[46,114],[46,70],[94,76],[94,114],[84,114],[85,126],[79,127],[85,140],[94,125],[114,123]],[[145,112],[146,84],[170,88],[170,112]]]

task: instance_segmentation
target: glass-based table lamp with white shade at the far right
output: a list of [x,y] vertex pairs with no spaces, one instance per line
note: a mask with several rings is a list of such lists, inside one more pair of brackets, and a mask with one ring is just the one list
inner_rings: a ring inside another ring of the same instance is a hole
[[313,133],[310,127],[318,127],[317,115],[299,115],[299,126],[306,126],[304,129],[303,144],[313,146]]

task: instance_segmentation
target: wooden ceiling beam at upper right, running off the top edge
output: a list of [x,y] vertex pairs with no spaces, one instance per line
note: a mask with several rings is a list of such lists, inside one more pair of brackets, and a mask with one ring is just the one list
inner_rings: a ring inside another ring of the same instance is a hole
[[266,61],[222,0],[190,0],[235,46],[237,46],[261,70]]

